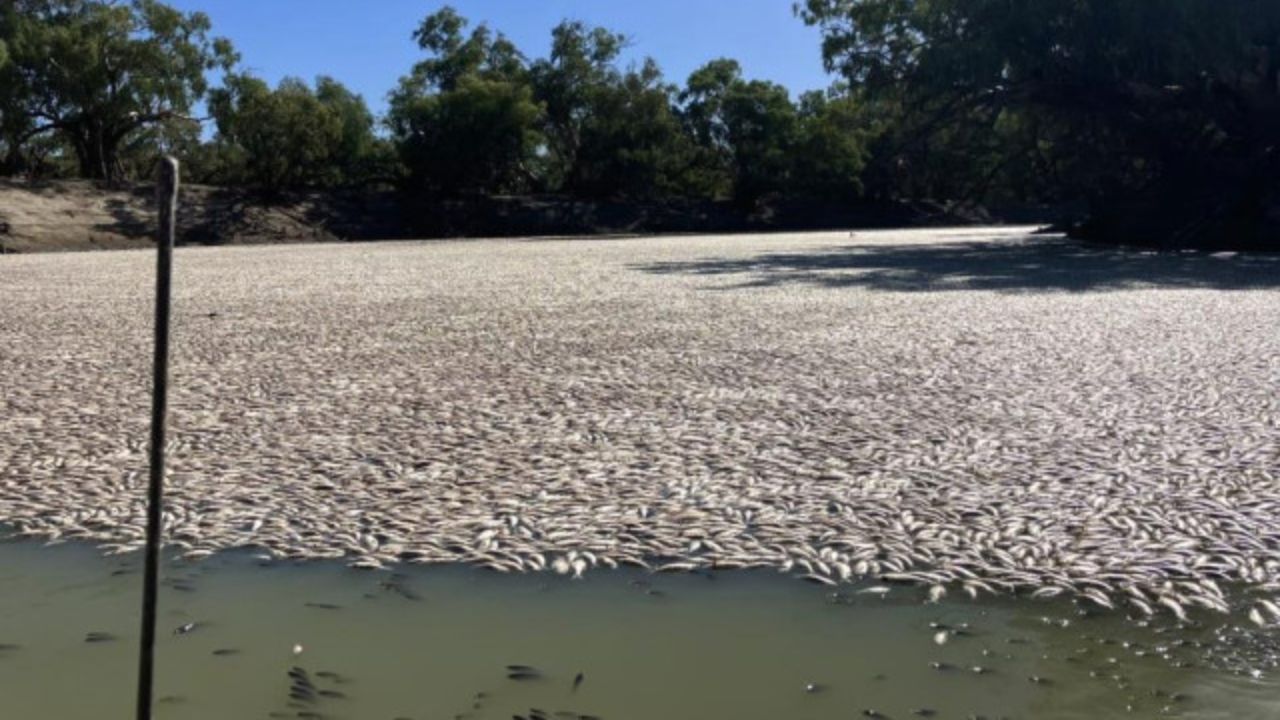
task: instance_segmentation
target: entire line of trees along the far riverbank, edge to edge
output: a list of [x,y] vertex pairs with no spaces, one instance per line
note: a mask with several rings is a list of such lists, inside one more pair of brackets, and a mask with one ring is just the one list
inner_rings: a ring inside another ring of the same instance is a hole
[[[379,183],[412,197],[1085,202],[1097,236],[1280,246],[1280,3],[800,0],[831,88],[714,59],[682,85],[566,20],[530,58],[444,6],[385,118],[333,78],[238,69],[159,0],[0,5],[0,173]],[[210,87],[210,73],[223,82]],[[200,102],[206,140],[189,114]]]

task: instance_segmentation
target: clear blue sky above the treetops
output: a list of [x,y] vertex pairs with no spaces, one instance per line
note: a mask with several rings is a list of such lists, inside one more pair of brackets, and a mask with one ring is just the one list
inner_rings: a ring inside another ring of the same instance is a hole
[[544,56],[562,19],[632,38],[626,60],[652,56],[671,82],[713,58],[735,58],[749,78],[799,94],[824,88],[820,38],[791,12],[792,0],[168,0],[202,10],[214,35],[232,40],[242,67],[273,85],[285,76],[328,74],[364,95],[375,113],[421,58],[411,33],[445,4]]

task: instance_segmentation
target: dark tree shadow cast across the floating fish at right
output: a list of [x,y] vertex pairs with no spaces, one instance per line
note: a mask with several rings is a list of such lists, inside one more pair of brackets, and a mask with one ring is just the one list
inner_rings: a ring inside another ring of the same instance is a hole
[[791,284],[897,292],[1280,287],[1280,254],[1162,254],[1056,236],[928,245],[847,245],[742,259],[652,263],[635,269],[739,281],[718,290]]

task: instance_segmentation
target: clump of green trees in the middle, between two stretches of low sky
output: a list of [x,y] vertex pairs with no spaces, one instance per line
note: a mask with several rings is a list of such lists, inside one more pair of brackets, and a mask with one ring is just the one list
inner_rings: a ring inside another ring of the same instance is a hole
[[[860,191],[851,100],[801,111],[733,60],[709,63],[678,91],[653,60],[621,68],[627,38],[580,22],[557,26],[548,56],[526,65],[502,35],[467,27],[451,8],[424,19],[415,38],[429,56],[392,94],[388,127],[417,191],[742,204]],[[823,156],[795,156],[809,150]]]

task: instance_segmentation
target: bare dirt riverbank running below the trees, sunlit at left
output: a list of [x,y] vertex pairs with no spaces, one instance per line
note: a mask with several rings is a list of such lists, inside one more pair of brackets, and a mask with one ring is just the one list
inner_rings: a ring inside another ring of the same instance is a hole
[[[1011,222],[1038,222],[1010,217]],[[284,243],[431,237],[815,231],[991,223],[937,205],[590,202],[564,197],[420,201],[393,191],[292,192],[276,197],[183,186],[182,245]],[[0,179],[0,252],[146,247],[156,223],[151,186]]]

